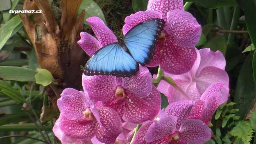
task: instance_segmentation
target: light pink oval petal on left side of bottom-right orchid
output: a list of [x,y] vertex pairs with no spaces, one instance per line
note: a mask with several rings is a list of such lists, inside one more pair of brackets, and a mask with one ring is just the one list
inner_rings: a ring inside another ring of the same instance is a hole
[[175,130],[177,120],[177,117],[166,116],[161,118],[159,121],[154,122],[147,130],[145,140],[147,142],[153,142],[172,134]]

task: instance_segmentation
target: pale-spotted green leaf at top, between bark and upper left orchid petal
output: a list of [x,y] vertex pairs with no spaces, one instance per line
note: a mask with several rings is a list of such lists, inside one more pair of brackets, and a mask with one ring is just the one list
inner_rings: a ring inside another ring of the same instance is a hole
[[106,20],[104,18],[104,14],[102,10],[98,6],[98,4],[93,0],[83,0],[82,3],[80,4],[80,7],[78,8],[77,13],[80,14],[83,10],[85,11],[84,24],[89,25],[86,19],[91,16],[99,17],[106,24]]

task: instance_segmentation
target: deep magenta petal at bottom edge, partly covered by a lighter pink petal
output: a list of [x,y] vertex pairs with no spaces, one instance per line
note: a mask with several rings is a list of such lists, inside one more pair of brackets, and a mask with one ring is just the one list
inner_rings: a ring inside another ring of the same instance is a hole
[[158,139],[154,142],[145,141],[145,134],[152,123],[152,121],[149,121],[140,127],[132,144],[169,144],[165,138]]

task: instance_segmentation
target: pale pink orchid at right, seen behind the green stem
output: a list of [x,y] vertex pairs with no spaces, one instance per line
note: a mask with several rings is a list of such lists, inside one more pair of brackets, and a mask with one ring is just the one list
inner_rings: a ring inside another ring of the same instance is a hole
[[[198,100],[206,89],[213,83],[223,83],[221,90],[220,104],[228,100],[229,95],[229,76],[224,71],[226,61],[220,51],[212,52],[209,48],[196,50],[197,60],[192,69],[186,74],[172,75],[165,72],[165,75],[172,77],[177,85],[188,95],[190,100]],[[154,75],[153,77],[156,77]],[[168,96],[169,103],[184,100],[178,90],[161,81],[158,90]]]

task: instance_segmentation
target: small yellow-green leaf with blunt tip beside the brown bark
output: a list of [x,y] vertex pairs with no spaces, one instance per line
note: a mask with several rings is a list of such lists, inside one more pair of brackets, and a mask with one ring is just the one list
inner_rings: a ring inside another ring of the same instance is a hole
[[48,70],[41,69],[41,68],[38,68],[36,70],[38,71],[38,73],[35,75],[37,84],[46,86],[52,83],[54,79],[52,74]]

